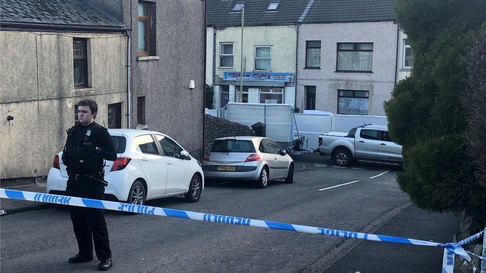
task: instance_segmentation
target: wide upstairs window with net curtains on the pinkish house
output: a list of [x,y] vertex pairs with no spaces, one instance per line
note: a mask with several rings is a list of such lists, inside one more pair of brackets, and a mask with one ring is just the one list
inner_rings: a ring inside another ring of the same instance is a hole
[[372,43],[338,43],[337,71],[371,72],[372,66]]

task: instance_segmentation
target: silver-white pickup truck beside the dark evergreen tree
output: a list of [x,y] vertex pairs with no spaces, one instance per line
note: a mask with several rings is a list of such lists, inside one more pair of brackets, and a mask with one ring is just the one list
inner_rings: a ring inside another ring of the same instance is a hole
[[331,155],[338,166],[348,166],[353,161],[402,165],[402,146],[394,143],[385,125],[363,125],[349,133],[329,132],[319,136],[321,156]]

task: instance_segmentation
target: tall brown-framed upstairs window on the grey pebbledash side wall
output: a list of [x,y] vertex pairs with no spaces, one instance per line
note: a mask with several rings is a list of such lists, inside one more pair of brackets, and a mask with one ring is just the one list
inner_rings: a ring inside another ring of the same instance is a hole
[[138,1],[138,55],[155,55],[155,3]]

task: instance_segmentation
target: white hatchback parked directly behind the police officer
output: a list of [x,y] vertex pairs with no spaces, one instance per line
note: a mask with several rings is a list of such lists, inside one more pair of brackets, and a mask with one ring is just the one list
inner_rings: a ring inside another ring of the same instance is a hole
[[[173,139],[159,132],[109,129],[117,150],[117,160],[107,161],[107,199],[144,204],[145,200],[184,194],[197,202],[204,189],[204,174],[194,159]],[[54,157],[47,176],[47,193],[65,194],[68,174],[61,160]]]

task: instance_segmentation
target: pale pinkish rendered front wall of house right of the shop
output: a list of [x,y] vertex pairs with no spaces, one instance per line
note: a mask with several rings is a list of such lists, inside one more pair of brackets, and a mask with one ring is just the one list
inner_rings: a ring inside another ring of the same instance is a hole
[[[316,110],[337,113],[338,90],[369,91],[368,115],[385,115],[397,64],[398,25],[392,21],[301,24],[298,36],[296,106],[306,109],[304,86],[316,87]],[[306,41],[321,41],[320,69],[305,69]],[[337,43],[373,43],[371,73],[335,72]]]

